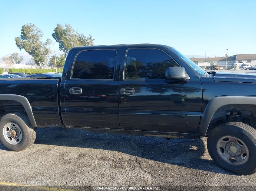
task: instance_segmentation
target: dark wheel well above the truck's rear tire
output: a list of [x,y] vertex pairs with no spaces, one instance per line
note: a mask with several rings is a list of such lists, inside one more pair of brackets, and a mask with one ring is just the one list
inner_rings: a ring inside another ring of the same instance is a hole
[[0,100],[0,118],[8,113],[26,113],[25,108],[18,101],[13,100]]

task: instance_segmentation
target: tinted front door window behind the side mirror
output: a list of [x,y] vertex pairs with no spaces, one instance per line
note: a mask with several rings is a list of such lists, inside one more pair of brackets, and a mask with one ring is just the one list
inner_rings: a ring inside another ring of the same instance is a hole
[[125,79],[164,79],[166,69],[172,66],[179,65],[161,50],[129,49]]

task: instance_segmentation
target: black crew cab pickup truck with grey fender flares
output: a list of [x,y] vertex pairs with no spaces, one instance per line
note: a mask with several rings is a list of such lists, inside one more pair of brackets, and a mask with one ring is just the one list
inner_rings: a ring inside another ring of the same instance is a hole
[[170,46],[75,47],[61,79],[0,80],[0,140],[22,151],[38,127],[207,136],[218,165],[248,175],[256,170],[255,83],[255,75],[205,72]]

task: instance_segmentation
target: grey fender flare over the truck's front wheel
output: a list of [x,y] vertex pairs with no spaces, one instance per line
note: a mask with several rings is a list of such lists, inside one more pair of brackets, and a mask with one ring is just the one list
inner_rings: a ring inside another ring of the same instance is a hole
[[201,136],[205,136],[208,126],[210,124],[211,118],[218,108],[230,105],[230,104],[248,104],[256,105],[256,97],[253,96],[219,96],[212,98],[207,106],[205,107],[203,117],[198,129],[198,133]]

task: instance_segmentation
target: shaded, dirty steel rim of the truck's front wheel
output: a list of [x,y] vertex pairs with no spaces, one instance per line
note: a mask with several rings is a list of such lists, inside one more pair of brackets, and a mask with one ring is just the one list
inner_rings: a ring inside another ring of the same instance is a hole
[[216,148],[219,156],[228,164],[243,165],[249,159],[247,145],[237,137],[221,137],[217,142]]

